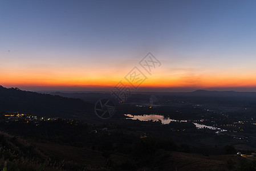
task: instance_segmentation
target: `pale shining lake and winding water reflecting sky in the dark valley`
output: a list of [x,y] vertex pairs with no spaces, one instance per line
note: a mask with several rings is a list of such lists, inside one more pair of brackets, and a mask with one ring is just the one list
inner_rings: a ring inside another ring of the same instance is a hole
[[[141,121],[149,121],[149,120],[159,121],[159,120],[161,120],[162,124],[169,124],[170,121],[188,122],[187,120],[170,119],[169,117],[164,117],[162,115],[131,115],[131,114],[124,114],[124,115],[128,116],[127,119],[132,119],[132,120],[137,120],[137,119],[141,120]],[[193,122],[190,122],[190,123],[193,123]],[[196,125],[196,128],[198,128],[198,129],[209,128],[209,129],[213,129],[213,130],[218,130],[216,133],[227,131],[225,129],[211,127],[211,126],[207,126],[207,125],[203,125],[203,124],[198,124],[198,123],[193,123],[193,124]]]

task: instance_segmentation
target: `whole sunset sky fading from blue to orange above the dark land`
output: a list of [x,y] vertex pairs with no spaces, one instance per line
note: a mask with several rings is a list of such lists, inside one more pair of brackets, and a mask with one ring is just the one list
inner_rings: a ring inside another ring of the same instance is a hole
[[151,52],[138,91],[256,91],[256,1],[0,1],[0,85],[100,91]]

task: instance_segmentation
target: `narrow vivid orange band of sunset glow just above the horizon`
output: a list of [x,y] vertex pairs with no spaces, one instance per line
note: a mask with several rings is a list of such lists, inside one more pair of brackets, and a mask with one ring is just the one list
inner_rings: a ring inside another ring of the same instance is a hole
[[[127,82],[127,80],[121,78],[117,78],[117,76],[112,76],[109,78],[79,78],[71,77],[71,78],[47,78],[40,77],[34,78],[29,76],[19,76],[15,78],[11,78],[9,76],[5,76],[5,78],[1,78],[1,84],[7,87],[13,87],[15,85],[22,86],[40,86],[40,87],[58,87],[58,86],[78,86],[78,87],[93,87],[93,86],[102,86],[102,87],[113,87],[122,80],[122,83],[131,87],[131,85]],[[250,76],[247,77],[217,77],[217,76],[201,76],[198,79],[196,76],[191,77],[173,77],[166,78],[164,76],[152,76],[152,78],[148,78],[143,82],[141,87],[155,88],[155,87],[254,87],[256,86],[256,78],[252,79]]]

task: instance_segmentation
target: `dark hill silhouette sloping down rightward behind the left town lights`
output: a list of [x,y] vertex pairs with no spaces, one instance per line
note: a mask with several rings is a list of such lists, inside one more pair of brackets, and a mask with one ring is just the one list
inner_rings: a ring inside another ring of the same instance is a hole
[[31,113],[46,117],[88,117],[94,104],[81,99],[22,91],[19,88],[0,86],[0,111]]

